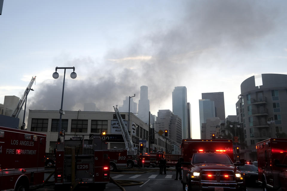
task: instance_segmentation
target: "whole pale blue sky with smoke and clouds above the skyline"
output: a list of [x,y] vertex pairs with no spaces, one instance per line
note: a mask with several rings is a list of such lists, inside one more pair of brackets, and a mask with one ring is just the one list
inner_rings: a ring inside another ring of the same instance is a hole
[[[287,74],[287,1],[4,0],[0,15],[0,103],[21,97],[27,109],[96,103],[113,112],[148,86],[150,110],[172,111],[172,91],[187,87],[192,137],[199,135],[201,93],[224,92],[236,115],[240,84],[262,73]],[[26,110],[27,110],[26,109]],[[28,114],[26,114],[28,116]]]

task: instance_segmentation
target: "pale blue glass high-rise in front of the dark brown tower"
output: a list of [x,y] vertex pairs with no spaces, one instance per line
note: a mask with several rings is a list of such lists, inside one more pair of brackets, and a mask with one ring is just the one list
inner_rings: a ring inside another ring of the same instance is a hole
[[210,99],[200,99],[199,100],[199,125],[200,125],[200,137],[204,138],[204,130],[202,129],[202,124],[206,123],[208,118],[215,117],[214,101]]

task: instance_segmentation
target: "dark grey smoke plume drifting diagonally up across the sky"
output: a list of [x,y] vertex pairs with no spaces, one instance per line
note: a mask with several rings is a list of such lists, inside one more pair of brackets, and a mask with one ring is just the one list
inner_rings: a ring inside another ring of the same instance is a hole
[[[143,26],[150,28],[149,34],[138,36],[121,50],[111,49],[103,63],[88,56],[68,60],[67,63],[76,68],[87,66],[88,73],[84,75],[88,77],[73,80],[68,72],[64,110],[83,109],[84,103],[94,102],[101,111],[113,111],[112,106],[122,105],[126,96],[135,93],[134,100],[138,100],[142,85],[149,87],[151,110],[157,110],[171,96],[175,86],[187,86],[197,80],[191,73],[196,70],[199,59],[204,59],[210,51],[216,52],[218,47],[222,50],[227,47],[226,52],[231,48],[233,54],[248,53],[276,28],[279,14],[272,4],[260,1],[178,2],[182,2],[184,14],[171,13],[174,20],[170,24],[161,20],[148,21]],[[224,54],[221,52],[217,56]],[[113,61],[136,56],[151,56],[151,59]],[[222,67],[225,63],[207,63],[207,70],[210,64]],[[103,65],[106,69],[100,67]],[[61,75],[62,71],[59,73]],[[83,76],[83,73],[77,74]],[[200,74],[204,75],[204,71],[199,71]],[[58,110],[62,79],[54,80],[53,84],[43,83],[41,91],[35,93],[30,109]],[[79,104],[82,107],[76,108]]]

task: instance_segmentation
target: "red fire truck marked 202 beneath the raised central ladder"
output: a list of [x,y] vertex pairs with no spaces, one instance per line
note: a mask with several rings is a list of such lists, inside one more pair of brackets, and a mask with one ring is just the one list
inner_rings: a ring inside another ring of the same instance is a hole
[[115,171],[118,167],[132,168],[138,164],[136,155],[127,155],[127,150],[109,149],[110,171]]

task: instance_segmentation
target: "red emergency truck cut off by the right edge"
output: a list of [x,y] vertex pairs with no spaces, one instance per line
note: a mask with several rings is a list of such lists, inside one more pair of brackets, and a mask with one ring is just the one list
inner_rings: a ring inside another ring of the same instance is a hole
[[287,190],[287,139],[269,138],[257,143],[256,149],[263,190]]

